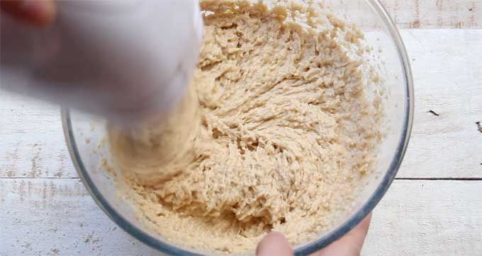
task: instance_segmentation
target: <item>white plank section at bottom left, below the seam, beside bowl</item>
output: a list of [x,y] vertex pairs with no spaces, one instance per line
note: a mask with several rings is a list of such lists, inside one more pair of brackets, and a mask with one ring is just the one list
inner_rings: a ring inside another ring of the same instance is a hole
[[159,255],[91,199],[79,179],[0,179],[0,255]]

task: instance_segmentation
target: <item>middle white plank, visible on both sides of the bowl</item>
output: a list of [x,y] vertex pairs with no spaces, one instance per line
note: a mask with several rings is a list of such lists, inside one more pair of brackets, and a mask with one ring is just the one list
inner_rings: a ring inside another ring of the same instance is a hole
[[[415,81],[399,178],[481,178],[482,30],[402,30]],[[430,110],[439,114],[432,115]],[[59,110],[0,94],[0,177],[75,178]]]

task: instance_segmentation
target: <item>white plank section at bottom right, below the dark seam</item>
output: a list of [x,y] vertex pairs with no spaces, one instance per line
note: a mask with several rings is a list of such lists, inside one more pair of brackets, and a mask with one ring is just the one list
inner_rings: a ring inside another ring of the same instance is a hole
[[480,255],[482,181],[397,180],[362,255]]

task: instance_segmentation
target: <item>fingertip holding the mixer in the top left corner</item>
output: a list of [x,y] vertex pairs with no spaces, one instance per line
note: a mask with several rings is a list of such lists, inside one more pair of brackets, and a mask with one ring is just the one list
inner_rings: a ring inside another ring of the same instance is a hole
[[43,27],[55,18],[55,0],[0,0],[1,11],[18,21]]

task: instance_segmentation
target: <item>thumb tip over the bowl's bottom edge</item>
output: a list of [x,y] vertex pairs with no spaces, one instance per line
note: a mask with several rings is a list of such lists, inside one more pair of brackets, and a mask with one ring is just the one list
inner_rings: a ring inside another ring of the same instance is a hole
[[288,256],[293,255],[293,249],[288,240],[279,232],[270,232],[256,248],[257,256]]

